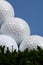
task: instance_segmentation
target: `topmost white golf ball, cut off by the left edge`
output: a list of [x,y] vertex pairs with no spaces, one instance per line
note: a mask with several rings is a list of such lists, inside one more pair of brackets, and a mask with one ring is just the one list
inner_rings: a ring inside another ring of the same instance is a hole
[[7,17],[12,16],[14,16],[14,9],[12,5],[9,2],[2,0],[0,2],[0,27]]

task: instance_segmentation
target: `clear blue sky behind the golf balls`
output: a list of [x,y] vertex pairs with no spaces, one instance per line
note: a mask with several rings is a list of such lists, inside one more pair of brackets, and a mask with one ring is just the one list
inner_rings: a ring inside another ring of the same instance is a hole
[[15,16],[24,19],[31,34],[43,36],[43,0],[7,0],[15,10]]

